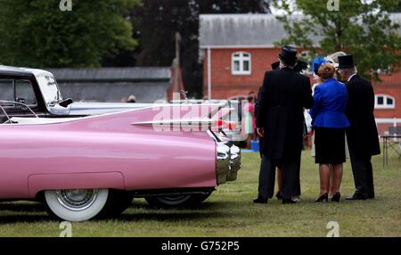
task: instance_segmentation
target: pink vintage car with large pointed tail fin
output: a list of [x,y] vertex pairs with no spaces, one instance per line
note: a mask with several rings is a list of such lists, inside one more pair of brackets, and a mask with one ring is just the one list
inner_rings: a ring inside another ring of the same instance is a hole
[[134,197],[164,207],[200,203],[236,179],[241,159],[217,127],[217,106],[202,107],[9,118],[0,124],[0,200],[40,200],[70,221],[118,215]]

